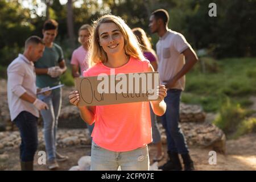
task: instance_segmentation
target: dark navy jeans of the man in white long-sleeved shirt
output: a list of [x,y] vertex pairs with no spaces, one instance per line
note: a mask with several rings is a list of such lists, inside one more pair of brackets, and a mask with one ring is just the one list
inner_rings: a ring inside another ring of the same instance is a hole
[[27,111],[22,111],[13,122],[19,129],[22,142],[19,146],[20,160],[31,162],[38,148],[38,118]]

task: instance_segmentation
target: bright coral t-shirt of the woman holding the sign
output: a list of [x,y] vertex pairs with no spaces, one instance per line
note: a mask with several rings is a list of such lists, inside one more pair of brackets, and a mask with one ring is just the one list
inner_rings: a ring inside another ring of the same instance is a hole
[[[94,65],[83,76],[110,75],[114,69],[119,73],[148,72],[150,62],[130,57],[128,63],[118,68],[109,68],[102,63]],[[149,102],[96,106],[93,141],[110,151],[124,152],[146,146],[152,142]]]

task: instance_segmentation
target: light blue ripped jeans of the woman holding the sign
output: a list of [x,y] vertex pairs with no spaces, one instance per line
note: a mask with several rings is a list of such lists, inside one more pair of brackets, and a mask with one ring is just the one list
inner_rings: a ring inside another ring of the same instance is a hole
[[147,146],[127,152],[114,152],[106,150],[92,142],[92,171],[148,171],[150,161]]

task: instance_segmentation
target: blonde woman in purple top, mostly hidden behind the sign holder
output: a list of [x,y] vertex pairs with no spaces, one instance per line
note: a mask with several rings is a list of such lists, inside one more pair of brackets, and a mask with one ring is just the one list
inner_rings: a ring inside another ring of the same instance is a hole
[[[152,49],[150,40],[147,38],[146,32],[142,28],[133,28],[133,33],[137,37],[139,44],[141,45],[141,49],[143,51],[143,55],[147,60],[150,61],[150,64],[154,68],[154,70],[158,70],[158,58],[154,49]],[[151,125],[152,125],[152,138],[153,143],[156,146],[156,155],[154,157],[154,162],[159,162],[163,159],[163,151],[162,151],[162,142],[161,142],[161,134],[159,131],[158,123],[156,120],[156,115],[154,114],[152,108],[150,107],[150,116],[151,116]]]

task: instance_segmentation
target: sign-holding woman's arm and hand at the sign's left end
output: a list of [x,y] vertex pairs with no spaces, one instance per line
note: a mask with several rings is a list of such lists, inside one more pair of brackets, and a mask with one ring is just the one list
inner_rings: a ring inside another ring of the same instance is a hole
[[[77,103],[80,100],[78,91],[75,90],[70,92],[68,98],[69,98],[69,102],[72,105],[77,106]],[[77,107],[79,108],[80,116],[82,120],[84,120],[89,125],[92,125],[95,118],[96,106],[77,106]]]

